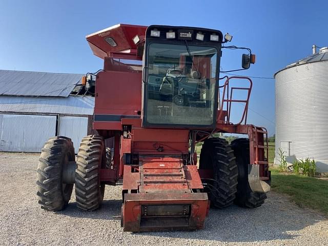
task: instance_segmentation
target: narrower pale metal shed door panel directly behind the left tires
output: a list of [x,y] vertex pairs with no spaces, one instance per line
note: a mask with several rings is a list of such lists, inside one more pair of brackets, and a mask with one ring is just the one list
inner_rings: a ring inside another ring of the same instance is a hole
[[87,135],[88,117],[59,116],[59,136],[70,137],[77,154],[80,141]]

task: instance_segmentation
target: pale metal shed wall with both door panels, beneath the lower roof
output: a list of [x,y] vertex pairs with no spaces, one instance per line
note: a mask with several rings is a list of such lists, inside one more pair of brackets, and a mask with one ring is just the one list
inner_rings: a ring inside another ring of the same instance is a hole
[[61,135],[72,139],[77,153],[87,127],[88,117],[0,114],[0,151],[39,153],[50,137]]

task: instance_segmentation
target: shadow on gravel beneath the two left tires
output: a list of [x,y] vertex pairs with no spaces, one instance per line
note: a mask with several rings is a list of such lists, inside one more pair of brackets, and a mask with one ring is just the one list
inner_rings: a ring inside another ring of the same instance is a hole
[[88,212],[78,209],[76,202],[70,202],[65,210],[56,213],[78,218],[120,220],[121,206],[121,200],[104,200],[100,209]]

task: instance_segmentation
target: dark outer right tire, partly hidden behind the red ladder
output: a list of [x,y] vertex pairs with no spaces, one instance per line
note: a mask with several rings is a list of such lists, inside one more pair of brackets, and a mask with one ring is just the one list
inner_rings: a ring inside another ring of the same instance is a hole
[[250,140],[248,138],[237,138],[232,141],[231,147],[234,150],[239,171],[235,203],[243,208],[260,207],[267,199],[267,195],[253,192],[248,182]]

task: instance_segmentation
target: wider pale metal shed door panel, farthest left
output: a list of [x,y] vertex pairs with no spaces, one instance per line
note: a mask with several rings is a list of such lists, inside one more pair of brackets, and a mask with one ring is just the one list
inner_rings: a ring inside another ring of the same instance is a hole
[[0,151],[40,152],[56,134],[56,116],[0,114]]

